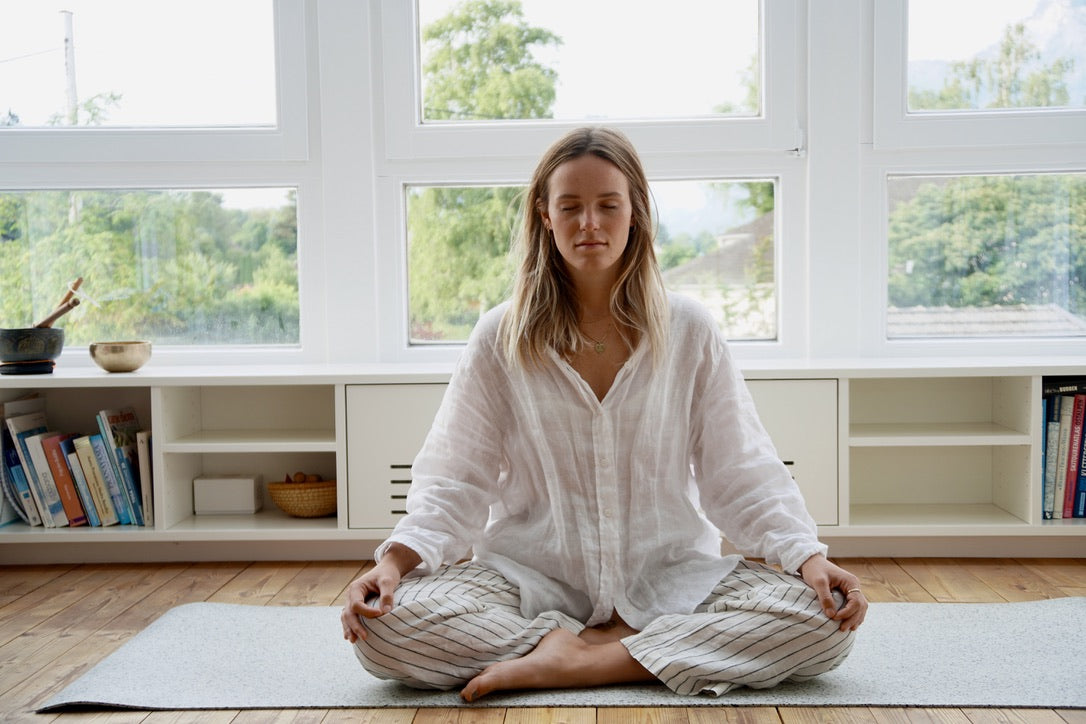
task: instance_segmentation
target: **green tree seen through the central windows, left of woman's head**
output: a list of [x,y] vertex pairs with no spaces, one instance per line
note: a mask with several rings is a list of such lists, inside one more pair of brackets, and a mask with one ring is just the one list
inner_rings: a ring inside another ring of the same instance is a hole
[[[548,118],[557,74],[533,50],[560,43],[529,26],[515,0],[468,0],[422,28],[427,119]],[[465,339],[508,295],[508,258],[520,189],[430,187],[408,191],[412,338]]]

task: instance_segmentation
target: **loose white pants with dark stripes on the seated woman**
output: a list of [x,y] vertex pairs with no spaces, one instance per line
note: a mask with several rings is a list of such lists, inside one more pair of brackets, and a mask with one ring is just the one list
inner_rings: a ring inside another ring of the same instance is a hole
[[[437,689],[527,655],[557,627],[584,628],[558,611],[526,619],[517,587],[475,563],[405,579],[393,610],[363,622],[369,635],[355,655],[369,673]],[[693,613],[661,615],[622,644],[677,694],[720,695],[818,676],[845,660],[854,639],[803,580],[742,561]]]

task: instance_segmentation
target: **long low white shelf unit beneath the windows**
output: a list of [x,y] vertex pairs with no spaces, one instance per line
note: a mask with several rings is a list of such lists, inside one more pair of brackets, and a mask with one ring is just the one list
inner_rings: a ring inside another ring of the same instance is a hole
[[[59,367],[0,378],[0,401],[37,392],[53,427],[93,431],[131,405],[153,430],[146,528],[0,528],[0,561],[364,558],[399,515],[447,366],[279,369]],[[1040,519],[1040,385],[1086,365],[745,364],[782,459],[836,556],[1086,556],[1086,520]],[[393,459],[394,458],[394,459]],[[192,479],[295,470],[338,481],[339,511],[296,519],[195,516]],[[94,545],[88,545],[94,544]]]

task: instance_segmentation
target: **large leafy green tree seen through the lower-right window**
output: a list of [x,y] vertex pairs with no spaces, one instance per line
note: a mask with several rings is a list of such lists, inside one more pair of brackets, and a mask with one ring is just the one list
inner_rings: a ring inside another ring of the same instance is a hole
[[1086,317],[1086,177],[921,185],[889,218],[889,304],[1057,305]]

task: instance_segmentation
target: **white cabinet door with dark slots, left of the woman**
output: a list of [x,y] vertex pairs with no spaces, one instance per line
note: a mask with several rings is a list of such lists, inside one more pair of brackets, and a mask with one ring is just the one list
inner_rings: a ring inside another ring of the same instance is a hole
[[348,528],[391,529],[444,384],[346,385]]

